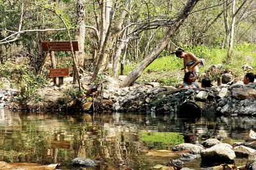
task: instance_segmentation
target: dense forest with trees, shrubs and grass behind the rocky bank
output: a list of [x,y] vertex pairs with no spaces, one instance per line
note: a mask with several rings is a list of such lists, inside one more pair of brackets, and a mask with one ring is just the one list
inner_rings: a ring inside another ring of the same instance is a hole
[[171,54],[177,47],[237,76],[246,64],[256,67],[253,0],[0,0],[0,14],[0,76],[20,89],[48,81],[52,64],[41,43],[49,39],[78,41],[79,52],[54,53],[55,67],[69,67],[78,83],[86,72],[92,81],[131,73],[121,84],[129,85],[142,73],[180,71],[181,60]]

